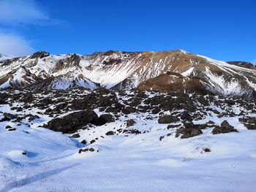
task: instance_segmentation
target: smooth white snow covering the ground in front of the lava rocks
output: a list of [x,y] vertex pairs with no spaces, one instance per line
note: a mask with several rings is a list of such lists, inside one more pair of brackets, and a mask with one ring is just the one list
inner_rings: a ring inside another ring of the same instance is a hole
[[[13,112],[8,105],[0,105],[0,111]],[[0,191],[255,191],[256,131],[246,129],[238,117],[194,121],[219,125],[227,120],[238,133],[213,135],[206,128],[197,137],[181,139],[175,128],[146,115],[129,114],[80,130],[78,139],[39,127],[50,120],[48,115],[30,123],[1,122]],[[132,128],[146,132],[105,135],[125,126],[127,118],[136,120]],[[7,131],[7,125],[16,131]],[[80,143],[94,138],[91,145]],[[93,152],[78,153],[91,147]]]

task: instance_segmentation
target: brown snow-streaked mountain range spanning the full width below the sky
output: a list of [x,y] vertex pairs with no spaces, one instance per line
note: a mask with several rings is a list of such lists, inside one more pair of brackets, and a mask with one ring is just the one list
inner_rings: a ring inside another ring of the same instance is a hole
[[[173,76],[173,73],[177,75]],[[118,90],[177,91],[176,87],[183,87],[182,91],[187,93],[255,96],[255,77],[254,68],[216,61],[184,50],[108,51],[91,55],[37,52],[0,61],[0,88],[100,86]],[[158,85],[152,78],[157,78]],[[191,85],[193,88],[189,87]]]

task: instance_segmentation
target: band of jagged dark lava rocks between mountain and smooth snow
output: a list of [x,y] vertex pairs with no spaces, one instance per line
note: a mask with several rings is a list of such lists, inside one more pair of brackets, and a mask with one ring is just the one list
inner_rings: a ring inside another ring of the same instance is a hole
[[[12,113],[0,112],[1,122],[15,123],[19,127],[26,121],[47,116],[42,127],[64,134],[89,130],[111,122],[124,121],[121,128],[113,128],[110,134],[142,134],[135,129],[136,123],[154,121],[165,124],[166,129],[176,130],[176,137],[195,137],[205,128],[214,128],[212,134],[238,132],[227,120],[220,125],[212,120],[237,117],[248,129],[256,130],[254,99],[222,98],[186,93],[157,93],[143,91],[110,91],[99,88],[59,91],[2,91],[1,104],[9,105]],[[130,118],[133,115],[134,118]],[[203,123],[193,123],[193,122]],[[11,126],[6,127],[13,131]],[[143,130],[144,133],[148,130]],[[78,137],[78,134],[75,136]],[[89,141],[90,142],[90,141]]]

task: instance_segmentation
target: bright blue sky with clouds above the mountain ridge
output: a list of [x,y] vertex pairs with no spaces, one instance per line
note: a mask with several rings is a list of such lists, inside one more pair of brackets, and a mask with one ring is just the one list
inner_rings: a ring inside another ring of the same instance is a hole
[[184,49],[254,61],[255,45],[255,0],[0,0],[0,53],[9,55]]

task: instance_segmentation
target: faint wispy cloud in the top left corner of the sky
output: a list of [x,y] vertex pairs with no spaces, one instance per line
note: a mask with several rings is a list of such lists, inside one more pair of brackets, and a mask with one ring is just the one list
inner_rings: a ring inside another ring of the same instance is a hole
[[40,9],[34,0],[0,0],[0,23],[39,24],[50,20],[47,13]]

